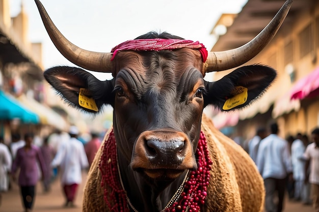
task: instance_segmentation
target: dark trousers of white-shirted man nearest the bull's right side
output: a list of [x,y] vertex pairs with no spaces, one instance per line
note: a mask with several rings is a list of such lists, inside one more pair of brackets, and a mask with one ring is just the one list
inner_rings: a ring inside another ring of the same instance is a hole
[[[283,201],[285,195],[286,178],[264,179],[264,186],[266,190],[265,207],[267,212],[281,212],[283,208]],[[275,204],[274,198],[278,198],[278,204]]]

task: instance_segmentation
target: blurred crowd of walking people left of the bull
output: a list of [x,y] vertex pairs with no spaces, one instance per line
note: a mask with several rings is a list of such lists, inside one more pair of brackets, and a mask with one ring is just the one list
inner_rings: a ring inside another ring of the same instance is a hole
[[77,127],[68,132],[56,130],[39,138],[32,133],[12,134],[11,142],[4,144],[0,136],[0,208],[2,193],[17,183],[25,212],[32,211],[36,185],[41,180],[43,192],[50,192],[51,183],[60,177],[64,207],[74,207],[82,171],[88,171],[101,145],[102,134],[91,132],[81,136]]

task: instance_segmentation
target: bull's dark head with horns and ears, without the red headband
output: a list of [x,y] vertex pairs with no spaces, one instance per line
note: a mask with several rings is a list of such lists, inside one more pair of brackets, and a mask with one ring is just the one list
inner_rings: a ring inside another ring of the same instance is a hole
[[[197,168],[194,152],[205,106],[227,111],[243,108],[273,82],[276,72],[261,65],[238,68],[216,82],[207,82],[203,76],[240,66],[254,57],[276,34],[292,2],[288,0],[252,41],[236,49],[209,52],[203,63],[201,53],[190,48],[119,51],[111,62],[113,53],[87,51],[69,42],[35,1],[52,42],[70,62],[114,77],[100,81],[80,68],[55,67],[45,71],[45,79],[72,106],[92,113],[105,104],[114,108],[118,158],[123,175],[127,175],[123,178],[142,173],[150,180],[164,181]],[[138,39],[153,38],[181,39],[166,33],[149,33]],[[81,92],[96,106],[79,104]],[[246,98],[240,102],[227,101],[241,95]]]

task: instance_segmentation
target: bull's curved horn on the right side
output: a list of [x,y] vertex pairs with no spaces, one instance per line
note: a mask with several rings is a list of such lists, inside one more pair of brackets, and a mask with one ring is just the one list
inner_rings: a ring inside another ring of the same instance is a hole
[[276,35],[293,0],[287,0],[271,22],[249,43],[227,51],[208,52],[204,72],[223,71],[240,66],[256,56]]

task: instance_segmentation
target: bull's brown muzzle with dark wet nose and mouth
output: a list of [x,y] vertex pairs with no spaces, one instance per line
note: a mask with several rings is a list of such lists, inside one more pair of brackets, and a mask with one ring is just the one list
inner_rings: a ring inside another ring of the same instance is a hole
[[151,178],[176,178],[186,169],[197,169],[190,139],[172,129],[141,133],[130,166]]

